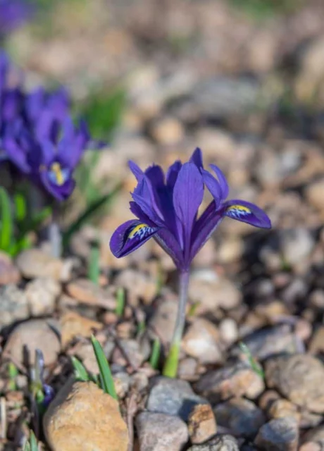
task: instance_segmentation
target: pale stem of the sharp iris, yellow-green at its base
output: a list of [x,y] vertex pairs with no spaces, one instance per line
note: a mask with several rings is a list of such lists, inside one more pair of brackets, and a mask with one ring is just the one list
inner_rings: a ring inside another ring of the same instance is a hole
[[179,276],[179,281],[179,305],[177,307],[175,330],[173,332],[168,357],[166,358],[166,362],[163,366],[163,376],[168,376],[169,378],[175,378],[177,376],[177,364],[179,362],[181,340],[186,320],[189,271],[182,271]]

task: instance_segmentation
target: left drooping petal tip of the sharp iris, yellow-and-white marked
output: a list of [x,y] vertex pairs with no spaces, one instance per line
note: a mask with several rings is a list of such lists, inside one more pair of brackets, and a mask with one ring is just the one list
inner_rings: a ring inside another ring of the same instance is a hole
[[149,227],[147,224],[131,219],[119,226],[110,241],[111,252],[118,259],[125,257],[144,245],[158,231],[157,227]]

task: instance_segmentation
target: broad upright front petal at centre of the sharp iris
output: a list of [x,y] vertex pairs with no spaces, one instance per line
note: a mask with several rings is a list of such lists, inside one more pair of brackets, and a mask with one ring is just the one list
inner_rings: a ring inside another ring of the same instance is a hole
[[204,197],[204,182],[194,163],[185,163],[180,169],[173,190],[173,206],[182,226],[186,253],[189,252],[190,236],[199,206]]

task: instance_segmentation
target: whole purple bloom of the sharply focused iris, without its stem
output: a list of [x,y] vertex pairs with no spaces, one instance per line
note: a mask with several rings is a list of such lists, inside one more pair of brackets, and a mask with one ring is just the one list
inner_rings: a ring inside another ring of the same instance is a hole
[[[225,216],[251,226],[270,228],[270,219],[258,206],[228,197],[228,182],[220,168],[211,165],[215,175],[203,167],[201,150],[196,149],[187,163],[175,161],[166,176],[160,166],[143,172],[130,161],[137,178],[130,210],[137,219],[123,223],[111,237],[111,252],[124,257],[151,237],[172,257],[181,272],[189,270],[192,259],[204,246]],[[204,186],[212,202],[199,216]]]

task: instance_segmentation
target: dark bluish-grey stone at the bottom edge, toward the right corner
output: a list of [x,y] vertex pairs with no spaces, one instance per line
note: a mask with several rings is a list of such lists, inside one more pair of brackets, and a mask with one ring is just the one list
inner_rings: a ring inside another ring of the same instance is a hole
[[297,421],[287,416],[261,426],[255,443],[264,451],[297,451],[298,440]]

